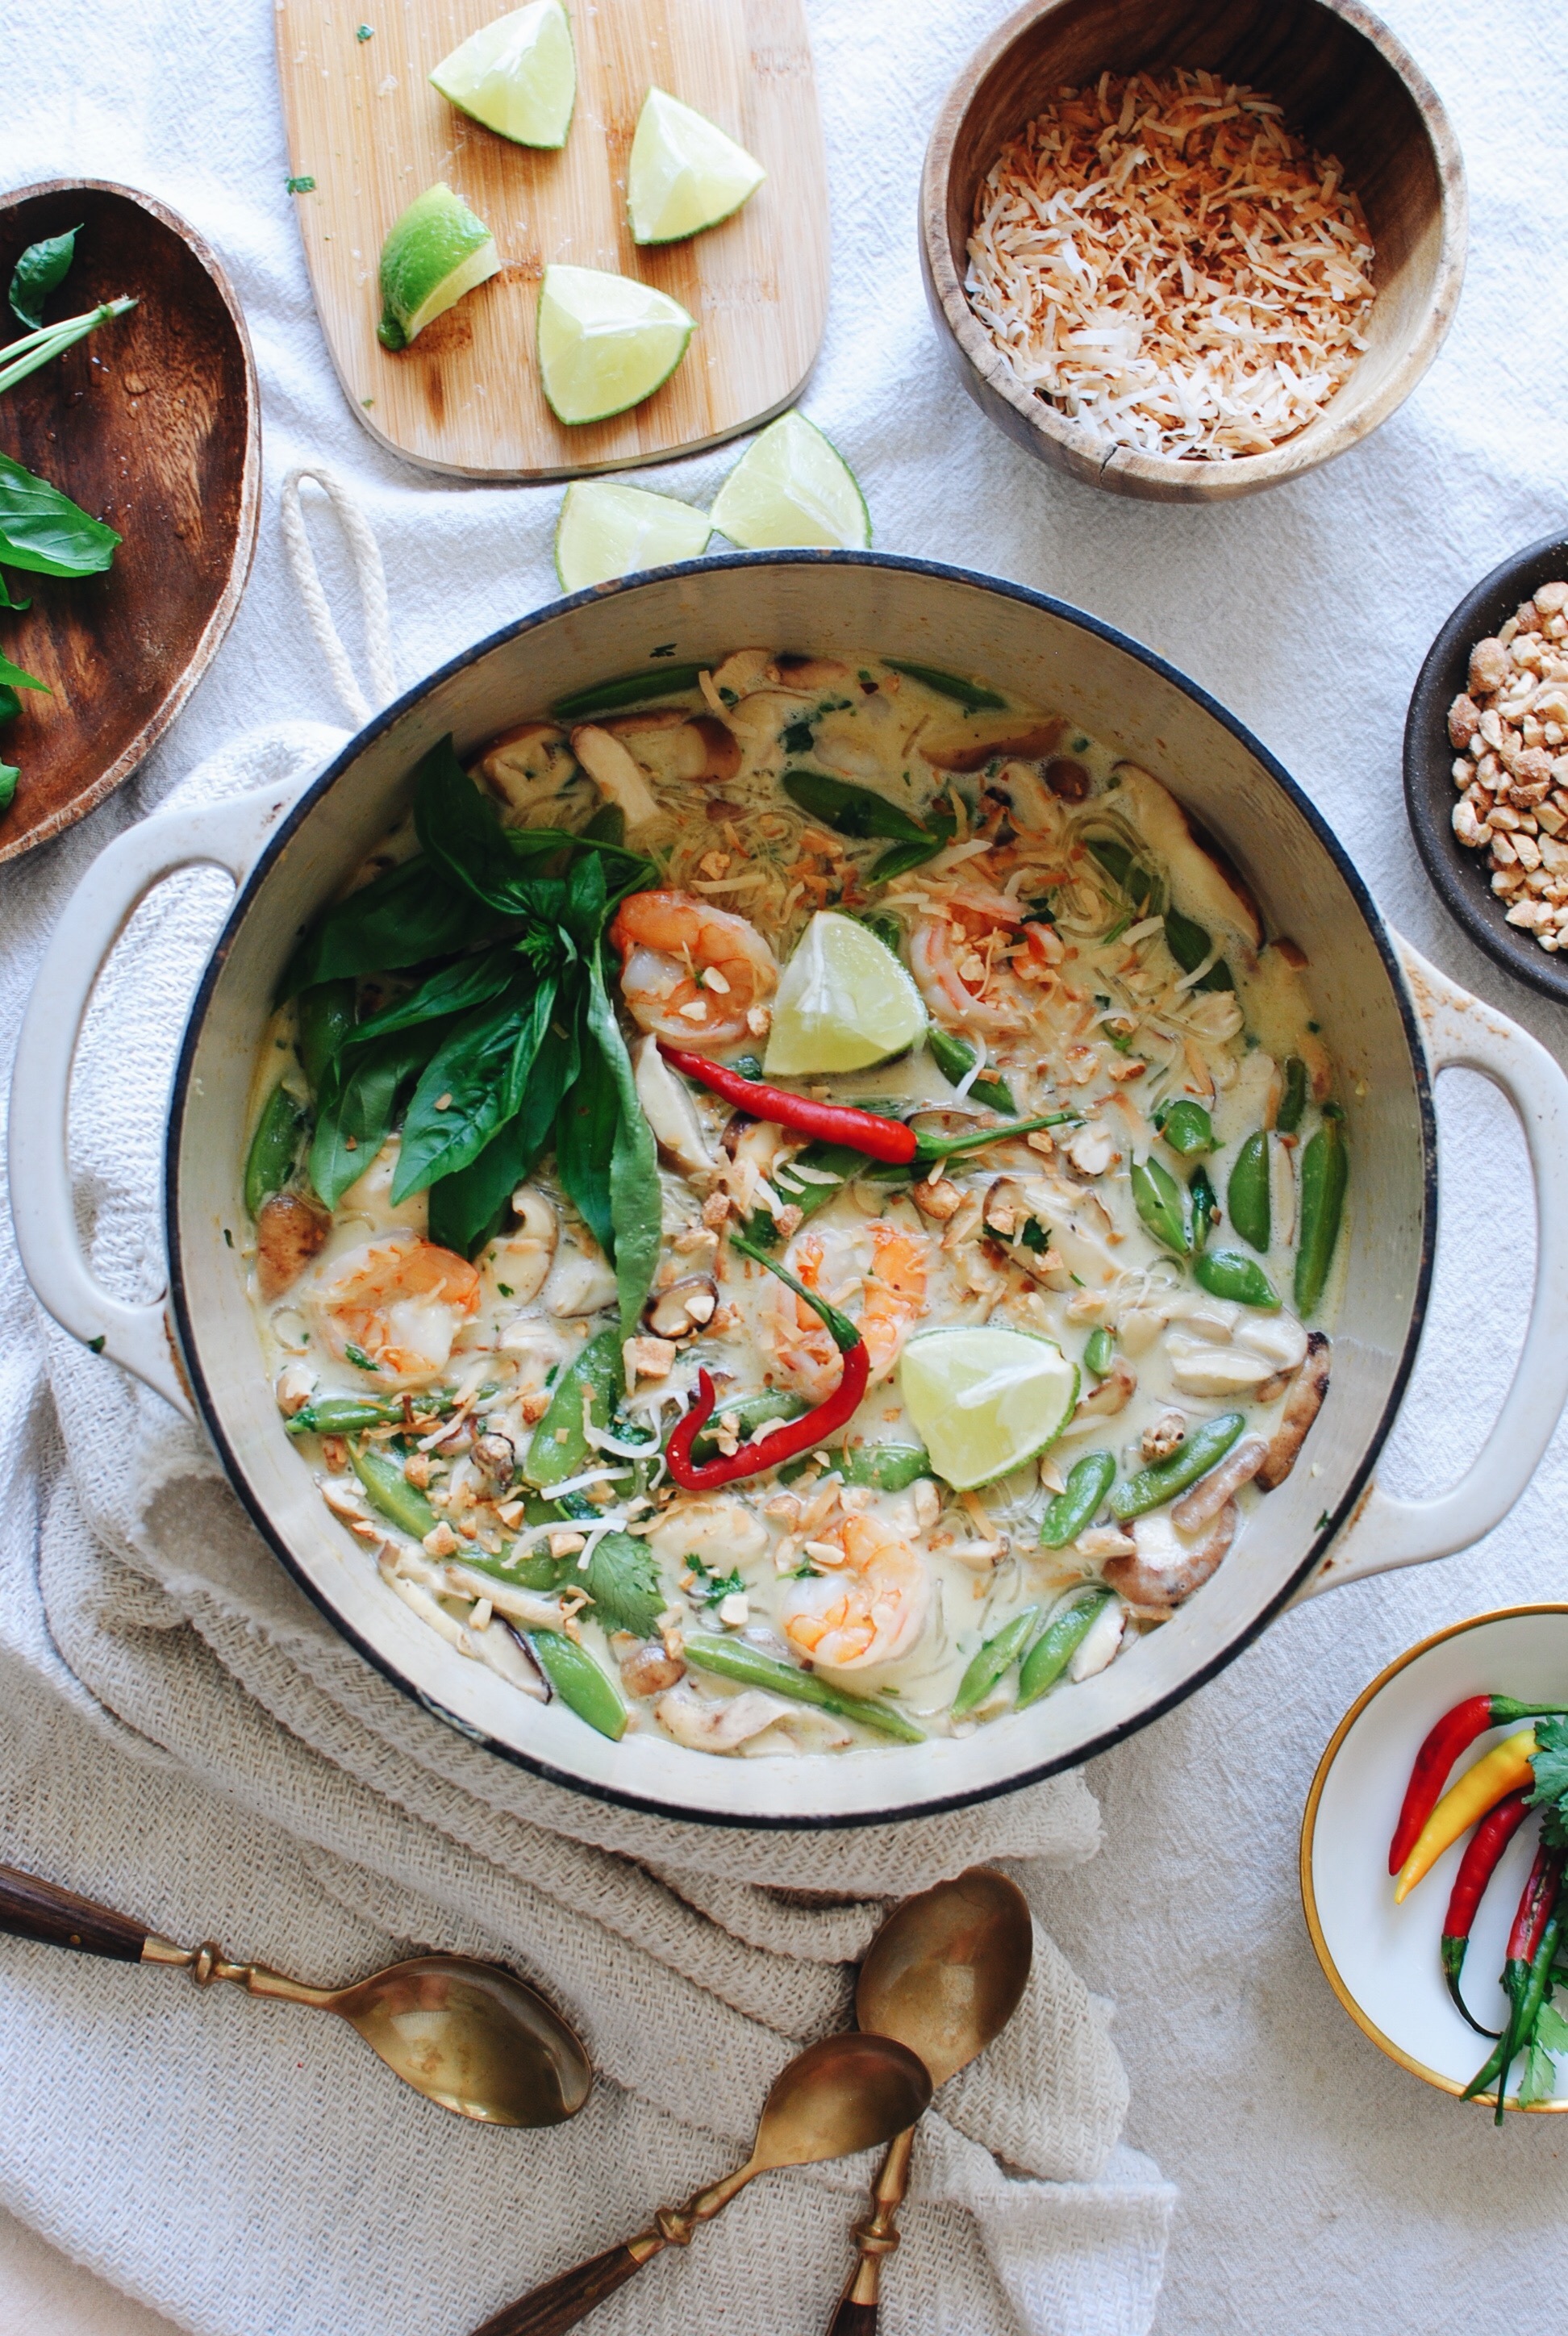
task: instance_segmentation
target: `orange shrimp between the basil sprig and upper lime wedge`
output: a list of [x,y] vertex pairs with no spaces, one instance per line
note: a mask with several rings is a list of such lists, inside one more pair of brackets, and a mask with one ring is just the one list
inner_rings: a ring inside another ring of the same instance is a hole
[[699,1051],[757,1035],[750,1014],[778,988],[778,958],[743,916],[692,892],[633,892],[610,939],[638,1028]]

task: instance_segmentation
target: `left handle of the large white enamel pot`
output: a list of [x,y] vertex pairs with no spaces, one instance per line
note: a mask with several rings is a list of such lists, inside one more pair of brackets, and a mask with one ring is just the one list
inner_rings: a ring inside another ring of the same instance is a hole
[[16,1037],[7,1166],[16,1247],[33,1292],[63,1329],[136,1371],[189,1420],[196,1411],[164,1299],[126,1306],[110,1296],[82,1252],[65,1147],[70,1070],[98,974],[138,902],[187,867],[220,867],[243,885],[308,776],[203,811],[164,811],[115,836],[54,927]]

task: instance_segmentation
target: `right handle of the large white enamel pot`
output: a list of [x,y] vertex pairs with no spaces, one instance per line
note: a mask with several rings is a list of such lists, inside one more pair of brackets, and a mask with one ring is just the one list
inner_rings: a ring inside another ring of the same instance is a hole
[[1397,934],[1395,946],[1432,1075],[1479,1070],[1519,1117],[1535,1184],[1535,1292],[1514,1381],[1461,1481],[1437,1500],[1395,1500],[1367,1486],[1304,1598],[1470,1549],[1514,1507],[1568,1402],[1568,1077],[1528,1030],[1458,988]]

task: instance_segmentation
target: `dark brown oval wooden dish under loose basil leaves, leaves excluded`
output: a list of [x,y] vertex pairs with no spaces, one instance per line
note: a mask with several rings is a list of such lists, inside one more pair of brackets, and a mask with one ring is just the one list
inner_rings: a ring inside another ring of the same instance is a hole
[[0,196],[0,287],[28,243],[70,227],[47,320],[119,292],[138,306],[0,397],[0,451],[124,542],[100,577],[12,572],[33,607],[0,612],[0,649],[54,696],[23,691],[0,729],[21,769],[0,860],[93,811],[164,736],[229,631],[262,500],[250,339],[213,250],[150,194],[51,180]]

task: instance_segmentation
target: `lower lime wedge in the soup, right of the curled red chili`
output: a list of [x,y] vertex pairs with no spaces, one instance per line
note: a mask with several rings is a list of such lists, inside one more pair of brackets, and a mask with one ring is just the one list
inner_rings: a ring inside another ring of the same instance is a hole
[[930,1329],[904,1348],[897,1383],[909,1425],[956,1493],[1033,1460],[1077,1404],[1077,1364],[1026,1329]]

